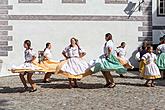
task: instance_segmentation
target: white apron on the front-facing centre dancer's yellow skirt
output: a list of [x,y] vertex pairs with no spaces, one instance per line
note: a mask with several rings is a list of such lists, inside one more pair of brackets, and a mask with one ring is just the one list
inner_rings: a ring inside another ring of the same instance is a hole
[[82,58],[69,58],[61,70],[72,75],[80,75],[86,72],[90,65]]

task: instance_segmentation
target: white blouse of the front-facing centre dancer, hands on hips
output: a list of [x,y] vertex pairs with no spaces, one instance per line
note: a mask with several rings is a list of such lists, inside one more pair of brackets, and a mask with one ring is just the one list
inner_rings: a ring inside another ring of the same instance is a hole
[[80,57],[79,53],[84,53],[84,49],[82,48],[78,48],[77,46],[75,47],[66,47],[64,50],[63,50],[63,53],[66,54],[67,57]]

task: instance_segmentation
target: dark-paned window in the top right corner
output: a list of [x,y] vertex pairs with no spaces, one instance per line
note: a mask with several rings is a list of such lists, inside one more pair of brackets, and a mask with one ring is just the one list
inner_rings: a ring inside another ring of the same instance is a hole
[[158,16],[165,16],[165,0],[158,0]]

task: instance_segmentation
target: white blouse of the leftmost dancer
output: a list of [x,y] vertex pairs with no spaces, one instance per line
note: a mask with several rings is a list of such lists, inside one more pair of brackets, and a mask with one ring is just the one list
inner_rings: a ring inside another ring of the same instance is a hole
[[32,61],[33,57],[34,56],[36,57],[36,54],[33,51],[33,49],[26,49],[24,53],[25,53],[25,62]]

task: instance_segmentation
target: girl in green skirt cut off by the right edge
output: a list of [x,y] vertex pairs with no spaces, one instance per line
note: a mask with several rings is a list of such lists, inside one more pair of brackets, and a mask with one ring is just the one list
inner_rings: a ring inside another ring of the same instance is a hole
[[159,55],[156,63],[161,70],[162,78],[165,78],[165,36],[164,38],[162,37],[162,41],[157,47],[157,53],[159,53]]

